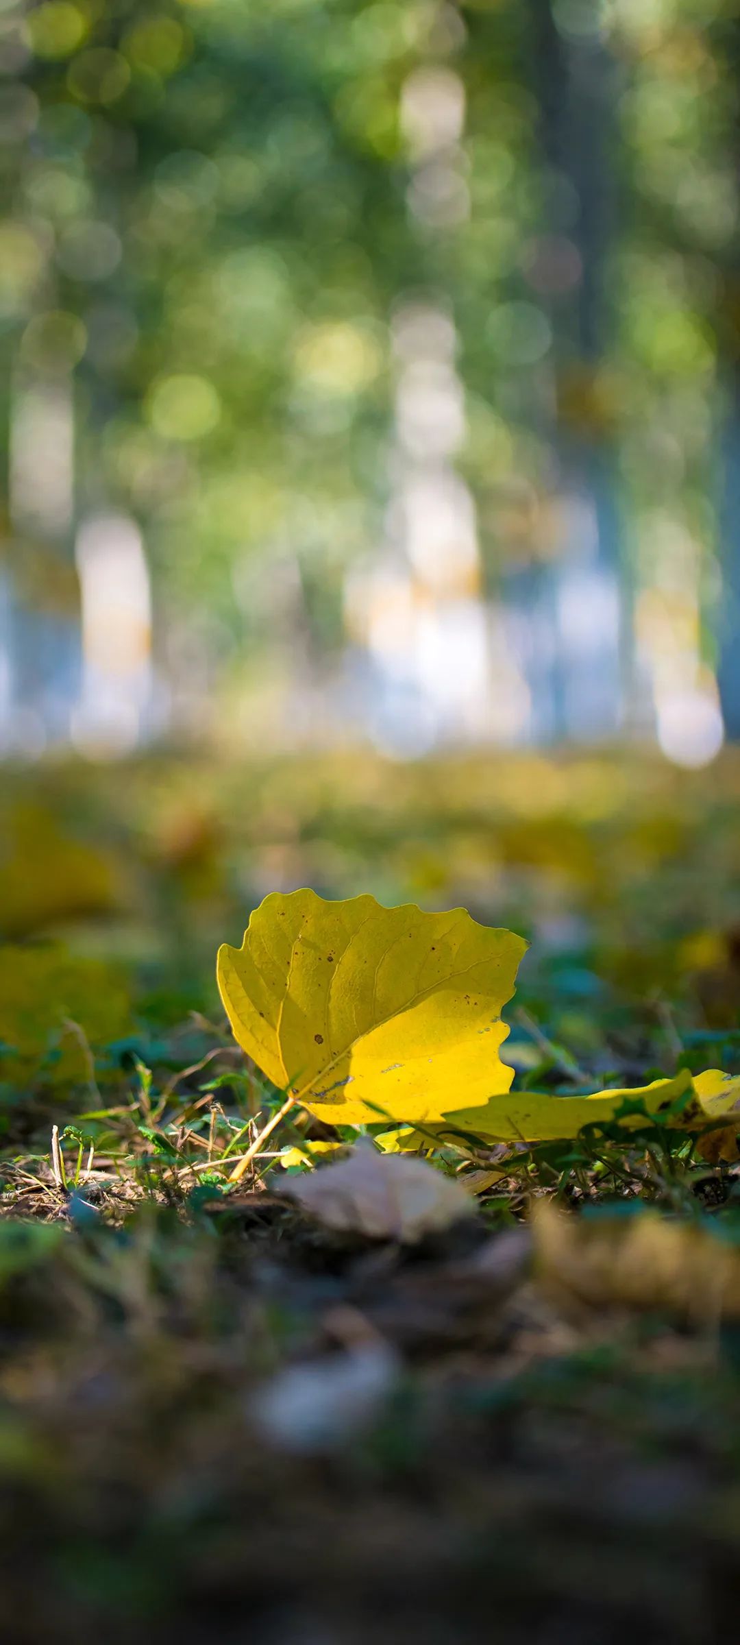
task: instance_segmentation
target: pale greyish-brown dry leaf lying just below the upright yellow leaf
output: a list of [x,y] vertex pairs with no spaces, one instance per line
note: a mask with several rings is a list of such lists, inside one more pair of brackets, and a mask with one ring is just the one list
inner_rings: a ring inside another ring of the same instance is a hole
[[424,1160],[358,1143],[339,1165],[291,1178],[281,1189],[331,1229],[413,1245],[475,1216],[475,1202]]

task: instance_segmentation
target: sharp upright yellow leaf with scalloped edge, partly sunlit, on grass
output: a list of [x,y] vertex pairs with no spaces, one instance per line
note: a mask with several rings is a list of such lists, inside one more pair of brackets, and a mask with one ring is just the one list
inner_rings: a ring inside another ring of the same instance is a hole
[[217,974],[238,1043],[322,1120],[439,1122],[510,1089],[502,1008],[525,949],[464,908],[273,892]]

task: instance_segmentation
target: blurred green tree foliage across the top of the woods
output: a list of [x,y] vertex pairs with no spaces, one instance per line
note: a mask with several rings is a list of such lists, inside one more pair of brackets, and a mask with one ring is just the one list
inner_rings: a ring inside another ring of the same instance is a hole
[[[168,609],[201,612],[209,655],[280,630],[296,597],[312,642],[339,640],[344,571],[386,500],[388,322],[414,293],[454,313],[493,581],[557,553],[562,446],[585,467],[617,449],[640,587],[658,528],[671,564],[681,531],[709,559],[717,334],[737,352],[719,0],[659,18],[618,0],[594,31],[516,0],[8,16],[12,355],[23,378],[74,372],[81,507],[102,494],[143,521]],[[571,130],[580,49],[592,173]],[[446,181],[409,87],[442,99],[449,76],[465,109]],[[74,607],[48,544],[16,544],[12,568],[23,602]],[[641,620],[650,640],[650,602]]]

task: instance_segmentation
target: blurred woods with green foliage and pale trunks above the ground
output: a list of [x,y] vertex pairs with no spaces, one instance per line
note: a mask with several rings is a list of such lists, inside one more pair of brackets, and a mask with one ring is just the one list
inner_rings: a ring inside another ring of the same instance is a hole
[[732,0],[2,5],[0,747],[740,735]]

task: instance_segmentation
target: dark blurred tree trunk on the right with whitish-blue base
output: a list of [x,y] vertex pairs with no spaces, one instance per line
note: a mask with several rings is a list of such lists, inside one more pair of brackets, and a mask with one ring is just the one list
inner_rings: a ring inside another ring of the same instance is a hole
[[[564,38],[551,7],[531,5],[531,72],[549,179],[556,247],[576,248],[580,280],[549,294],[564,541],[541,569],[553,623],[553,732],[618,730],[628,676],[628,574],[620,551],[617,472],[604,415],[605,260],[615,234],[613,110],[617,64],[594,36]],[[561,204],[557,204],[561,197]]]

